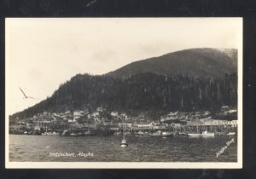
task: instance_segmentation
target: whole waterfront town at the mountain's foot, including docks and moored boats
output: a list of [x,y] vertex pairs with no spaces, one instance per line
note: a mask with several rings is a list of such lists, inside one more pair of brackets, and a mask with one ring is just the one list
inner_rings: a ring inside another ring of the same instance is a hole
[[[218,114],[232,115],[237,111],[234,108],[223,106]],[[236,116],[236,115],[234,115]],[[96,111],[88,109],[80,111],[66,111],[63,113],[38,113],[32,118],[16,118],[9,125],[10,134],[20,135],[60,135],[90,136],[113,135],[119,132],[138,132],[157,130],[172,131],[175,133],[198,132],[210,130],[218,134],[236,131],[236,118],[224,120],[212,118],[209,111],[202,112],[170,112],[161,115],[156,120],[148,119],[147,113],[129,116],[126,113],[107,111],[97,107]],[[86,133],[87,132],[87,133]]]

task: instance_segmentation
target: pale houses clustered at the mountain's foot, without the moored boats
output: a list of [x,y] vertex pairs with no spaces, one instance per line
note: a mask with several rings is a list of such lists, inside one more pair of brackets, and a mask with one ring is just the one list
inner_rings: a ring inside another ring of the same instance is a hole
[[[224,113],[236,113],[236,110],[223,107]],[[145,113],[131,117],[126,113],[97,107],[95,111],[88,109],[78,111],[66,111],[63,113],[38,113],[32,118],[19,119],[10,125],[10,130],[64,130],[76,128],[108,128],[109,130],[165,130],[168,128],[180,128],[182,126],[197,125],[223,125],[237,127],[237,120],[220,120],[211,117],[209,111],[204,112],[171,112],[160,116],[156,120],[148,120]]]

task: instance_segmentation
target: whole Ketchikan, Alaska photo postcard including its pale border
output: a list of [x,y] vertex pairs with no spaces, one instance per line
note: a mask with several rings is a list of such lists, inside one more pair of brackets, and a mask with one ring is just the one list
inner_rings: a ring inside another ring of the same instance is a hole
[[242,167],[242,18],[6,18],[7,168]]

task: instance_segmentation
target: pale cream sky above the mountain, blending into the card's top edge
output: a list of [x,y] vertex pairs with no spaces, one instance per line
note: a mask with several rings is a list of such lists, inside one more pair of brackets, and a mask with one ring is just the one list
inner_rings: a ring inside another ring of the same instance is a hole
[[[241,18],[7,18],[5,23],[9,114],[43,101],[78,73],[104,74],[182,49],[239,49],[242,40]],[[36,100],[24,99],[20,88]]]

